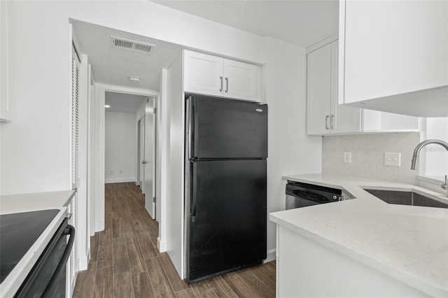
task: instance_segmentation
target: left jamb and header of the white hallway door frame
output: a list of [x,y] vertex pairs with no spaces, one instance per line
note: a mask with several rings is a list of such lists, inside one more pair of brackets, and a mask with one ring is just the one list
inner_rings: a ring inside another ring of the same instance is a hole
[[99,118],[99,148],[96,149],[97,156],[99,157],[99,171],[97,171],[97,180],[98,184],[95,185],[96,195],[95,195],[95,232],[99,232],[104,230],[104,161],[105,161],[105,115],[106,111],[104,108],[104,103],[106,101],[106,92],[116,92],[116,93],[126,93],[126,94],[135,94],[135,95],[143,95],[148,97],[159,98],[159,92],[155,90],[148,89],[139,89],[132,87],[123,87],[118,85],[107,85],[107,84],[97,84],[96,98],[99,105],[99,113],[97,117]]

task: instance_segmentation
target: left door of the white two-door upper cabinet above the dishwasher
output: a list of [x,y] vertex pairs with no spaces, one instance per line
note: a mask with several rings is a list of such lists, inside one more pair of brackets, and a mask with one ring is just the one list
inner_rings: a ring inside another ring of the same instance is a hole
[[307,134],[330,134],[331,46],[308,54]]

